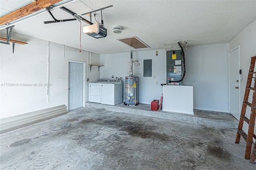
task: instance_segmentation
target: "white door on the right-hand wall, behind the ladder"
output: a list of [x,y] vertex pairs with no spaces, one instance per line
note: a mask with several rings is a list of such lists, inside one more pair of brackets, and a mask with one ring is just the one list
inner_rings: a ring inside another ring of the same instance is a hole
[[229,52],[230,113],[240,119],[239,48]]

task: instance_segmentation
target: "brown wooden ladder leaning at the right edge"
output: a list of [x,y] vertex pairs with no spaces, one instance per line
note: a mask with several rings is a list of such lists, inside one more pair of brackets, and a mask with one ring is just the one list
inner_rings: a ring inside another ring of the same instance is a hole
[[[245,93],[244,93],[244,101],[242,104],[242,110],[241,110],[240,120],[239,120],[238,129],[237,129],[237,133],[236,133],[236,142],[235,142],[235,143],[239,143],[241,136],[244,138],[244,140],[246,140],[246,148],[245,148],[244,158],[250,159],[250,157],[251,157],[251,160],[250,160],[251,163],[253,163],[255,161],[253,159],[256,157],[255,156],[256,148],[254,148],[254,150],[252,152],[252,156],[250,156],[251,150],[252,150],[252,139],[253,138],[256,139],[256,135],[254,134],[254,125],[255,125],[255,116],[256,116],[256,83],[255,83],[255,81],[254,81],[254,87],[251,87],[252,78],[254,78],[254,80],[256,80],[256,78],[253,77],[253,75],[256,74],[256,72],[254,72],[255,61],[256,61],[256,56],[251,57],[250,69],[249,69],[248,79],[247,79]],[[250,90],[253,90],[252,103],[248,102]],[[250,119],[245,117],[247,106],[251,107]],[[242,130],[244,121],[249,125],[247,134],[246,134],[246,132],[244,132],[244,130]]]

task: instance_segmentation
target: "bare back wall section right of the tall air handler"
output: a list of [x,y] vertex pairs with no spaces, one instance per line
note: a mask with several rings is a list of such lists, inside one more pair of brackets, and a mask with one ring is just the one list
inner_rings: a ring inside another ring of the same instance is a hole
[[194,108],[228,112],[228,44],[188,47],[184,85],[194,87]]

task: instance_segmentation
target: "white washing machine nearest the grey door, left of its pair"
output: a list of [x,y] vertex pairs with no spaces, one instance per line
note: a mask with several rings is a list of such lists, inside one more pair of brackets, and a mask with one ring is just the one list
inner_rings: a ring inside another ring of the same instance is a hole
[[101,103],[101,85],[108,83],[107,79],[99,79],[96,83],[89,83],[88,101]]

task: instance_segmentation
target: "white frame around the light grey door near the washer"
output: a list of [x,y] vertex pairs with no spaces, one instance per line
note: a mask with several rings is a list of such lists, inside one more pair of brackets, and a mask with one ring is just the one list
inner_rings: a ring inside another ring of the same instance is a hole
[[85,107],[85,102],[86,102],[86,62],[83,62],[83,61],[75,61],[75,60],[70,60],[68,59],[68,79],[67,79],[67,111],[69,111],[68,109],[68,87],[69,87],[69,63],[80,63],[80,64],[83,64],[83,107]]

